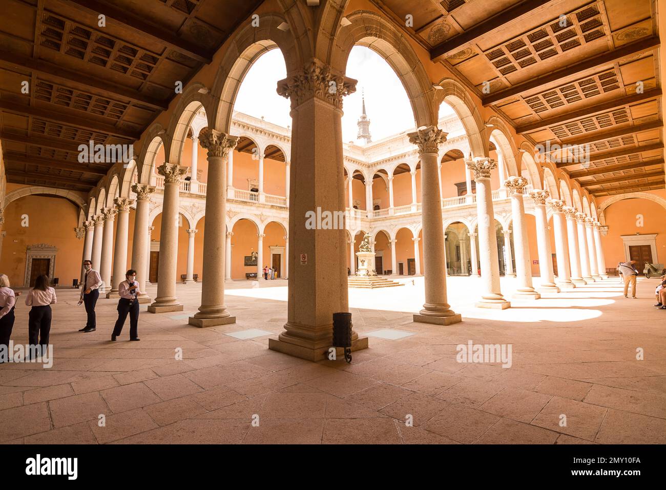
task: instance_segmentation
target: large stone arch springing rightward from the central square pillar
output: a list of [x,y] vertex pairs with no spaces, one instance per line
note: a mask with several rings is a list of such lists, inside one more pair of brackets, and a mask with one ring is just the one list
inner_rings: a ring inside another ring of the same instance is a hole
[[[342,11],[330,15],[341,18]],[[436,107],[432,103],[432,81],[406,36],[386,19],[371,11],[359,10],[346,15],[346,19],[350,21],[346,26],[339,27],[339,20],[334,24],[335,29],[331,33],[338,31],[334,35],[335,45],[325,54],[322,52],[324,57],[320,59],[330,63],[337,73],[345,73],[347,59],[355,45],[372,49],[384,58],[402,82],[412,105],[416,126],[437,125]],[[330,43],[325,39],[320,41]]]

